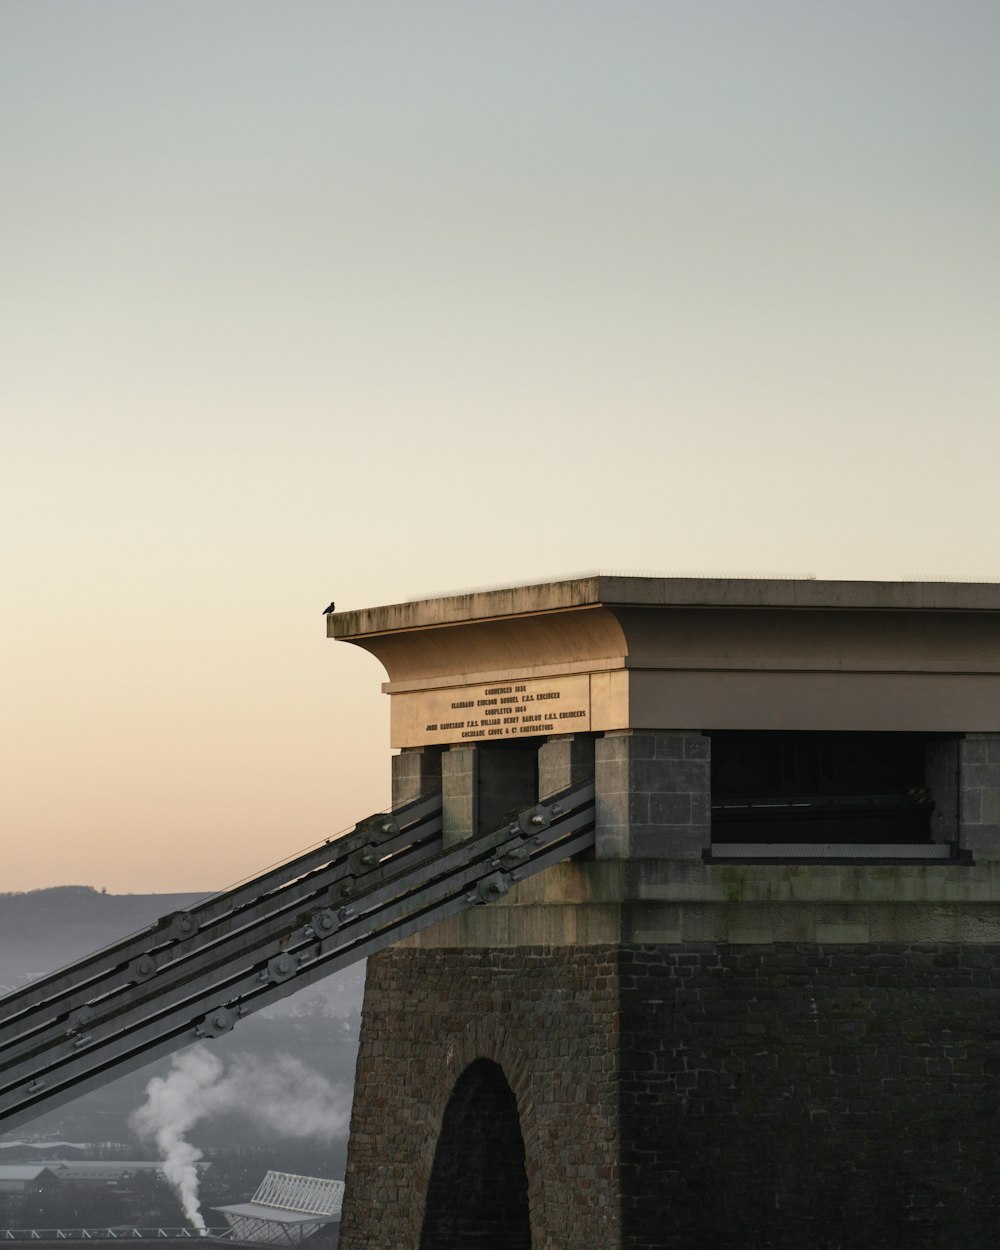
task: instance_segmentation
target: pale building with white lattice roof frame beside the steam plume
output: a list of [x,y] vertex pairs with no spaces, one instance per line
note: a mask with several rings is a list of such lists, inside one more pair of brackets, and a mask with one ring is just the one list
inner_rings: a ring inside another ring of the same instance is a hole
[[320,1229],[340,1222],[344,1181],[269,1171],[249,1202],[216,1206],[234,1241],[298,1246]]

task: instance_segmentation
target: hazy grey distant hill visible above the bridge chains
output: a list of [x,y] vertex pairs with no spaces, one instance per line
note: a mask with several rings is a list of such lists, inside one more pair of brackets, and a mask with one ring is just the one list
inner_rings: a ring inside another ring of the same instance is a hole
[[[208,891],[206,891],[208,892]],[[0,994],[100,950],[205,894],[104,894],[58,885],[0,894]]]

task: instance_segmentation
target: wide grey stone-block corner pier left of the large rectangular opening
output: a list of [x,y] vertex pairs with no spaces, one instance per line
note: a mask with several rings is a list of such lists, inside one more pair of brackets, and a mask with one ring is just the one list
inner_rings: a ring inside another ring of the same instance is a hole
[[711,741],[619,730],[595,744],[599,859],[701,859],[711,846]]

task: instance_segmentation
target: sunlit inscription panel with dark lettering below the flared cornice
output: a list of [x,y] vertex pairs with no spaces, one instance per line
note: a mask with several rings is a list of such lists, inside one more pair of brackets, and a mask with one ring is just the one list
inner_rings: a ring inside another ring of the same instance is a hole
[[392,745],[481,742],[590,729],[590,678],[516,678],[392,695]]

